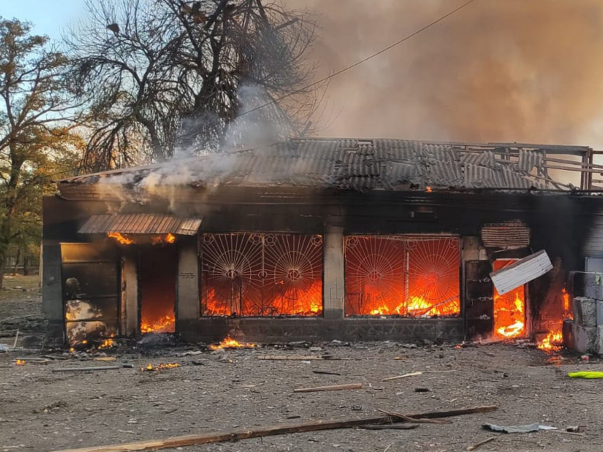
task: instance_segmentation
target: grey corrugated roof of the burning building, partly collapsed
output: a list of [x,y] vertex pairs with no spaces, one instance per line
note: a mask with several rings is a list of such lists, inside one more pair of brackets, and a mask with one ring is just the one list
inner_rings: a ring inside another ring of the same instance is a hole
[[522,150],[519,158],[503,160],[492,148],[475,146],[393,139],[297,139],[163,165],[83,175],[62,183],[136,185],[154,173],[159,175],[154,183],[166,185],[223,183],[356,190],[397,190],[411,184],[441,188],[543,187],[542,180],[531,174],[541,162],[541,151]]

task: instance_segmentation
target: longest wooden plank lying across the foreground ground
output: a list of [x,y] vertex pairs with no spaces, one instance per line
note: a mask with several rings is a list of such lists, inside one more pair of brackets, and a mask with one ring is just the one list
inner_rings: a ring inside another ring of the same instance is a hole
[[[447,418],[473,413],[486,413],[498,409],[496,406],[478,406],[460,410],[432,411],[426,413],[409,414],[415,419]],[[311,421],[303,424],[273,425],[259,427],[255,430],[235,430],[233,432],[207,433],[205,435],[172,436],[165,439],[150,439],[147,441],[113,444],[98,447],[83,447],[78,449],[62,449],[52,452],[130,452],[139,450],[159,450],[174,447],[185,447],[197,444],[212,444],[216,442],[238,441],[241,439],[260,438],[261,436],[286,435],[287,433],[317,432],[318,430],[333,430],[335,428],[352,428],[362,425],[393,424],[402,422],[399,418],[391,416],[364,419],[346,419],[343,421]]]

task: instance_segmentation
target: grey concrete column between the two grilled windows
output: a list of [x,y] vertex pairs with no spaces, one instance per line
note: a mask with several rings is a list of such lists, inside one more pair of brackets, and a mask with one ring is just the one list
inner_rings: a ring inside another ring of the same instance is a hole
[[344,316],[345,283],[343,256],[343,227],[327,225],[324,234],[324,318],[337,319]]

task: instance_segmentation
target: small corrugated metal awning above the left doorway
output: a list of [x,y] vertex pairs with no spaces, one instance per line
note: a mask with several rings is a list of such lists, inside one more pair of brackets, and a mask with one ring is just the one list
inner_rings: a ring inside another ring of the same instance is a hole
[[170,215],[92,215],[80,228],[80,234],[180,234],[194,236],[201,226],[199,218]]

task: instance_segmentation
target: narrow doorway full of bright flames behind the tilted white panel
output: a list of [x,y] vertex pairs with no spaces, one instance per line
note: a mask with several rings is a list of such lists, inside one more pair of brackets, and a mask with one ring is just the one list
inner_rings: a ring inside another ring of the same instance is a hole
[[[515,263],[514,259],[494,260],[493,270],[499,270]],[[525,287],[500,295],[494,287],[494,337],[512,339],[525,336]]]

